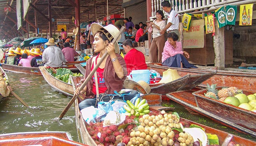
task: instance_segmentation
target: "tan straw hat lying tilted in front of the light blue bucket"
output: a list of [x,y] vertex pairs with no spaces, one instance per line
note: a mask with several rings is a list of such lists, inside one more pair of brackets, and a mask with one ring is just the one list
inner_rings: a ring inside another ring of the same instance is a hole
[[124,80],[124,88],[136,90],[143,94],[148,94],[151,91],[150,86],[145,81],[135,82],[133,80]]

